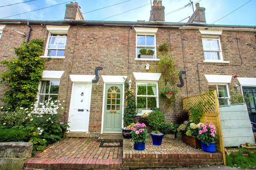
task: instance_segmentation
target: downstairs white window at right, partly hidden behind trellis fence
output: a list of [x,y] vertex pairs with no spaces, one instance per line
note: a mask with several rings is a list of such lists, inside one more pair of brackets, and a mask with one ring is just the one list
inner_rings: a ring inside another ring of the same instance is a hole
[[209,85],[209,90],[217,90],[219,105],[229,105],[228,85]]

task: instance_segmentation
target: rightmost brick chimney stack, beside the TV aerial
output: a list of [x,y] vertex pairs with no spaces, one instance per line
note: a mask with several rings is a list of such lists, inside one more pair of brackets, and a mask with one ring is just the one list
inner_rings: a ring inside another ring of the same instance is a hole
[[199,3],[196,3],[196,11],[190,16],[188,23],[206,23],[204,11],[205,8],[200,7]]

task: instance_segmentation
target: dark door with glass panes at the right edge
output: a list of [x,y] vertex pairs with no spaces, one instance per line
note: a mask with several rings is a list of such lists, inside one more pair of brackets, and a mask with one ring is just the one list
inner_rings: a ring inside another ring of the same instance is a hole
[[[243,87],[244,98],[251,122],[256,123],[256,87]],[[255,131],[255,130],[254,130]]]

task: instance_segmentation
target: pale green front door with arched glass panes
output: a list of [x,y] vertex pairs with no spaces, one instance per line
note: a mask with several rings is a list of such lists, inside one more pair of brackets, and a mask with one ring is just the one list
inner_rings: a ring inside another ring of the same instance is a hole
[[122,132],[123,84],[106,84],[103,133]]

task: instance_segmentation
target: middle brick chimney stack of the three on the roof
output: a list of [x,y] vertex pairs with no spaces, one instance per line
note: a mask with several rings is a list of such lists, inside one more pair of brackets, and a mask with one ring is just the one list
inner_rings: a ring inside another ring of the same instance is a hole
[[158,0],[153,1],[153,6],[151,7],[149,21],[164,22],[164,6],[162,5],[162,1],[158,1]]

